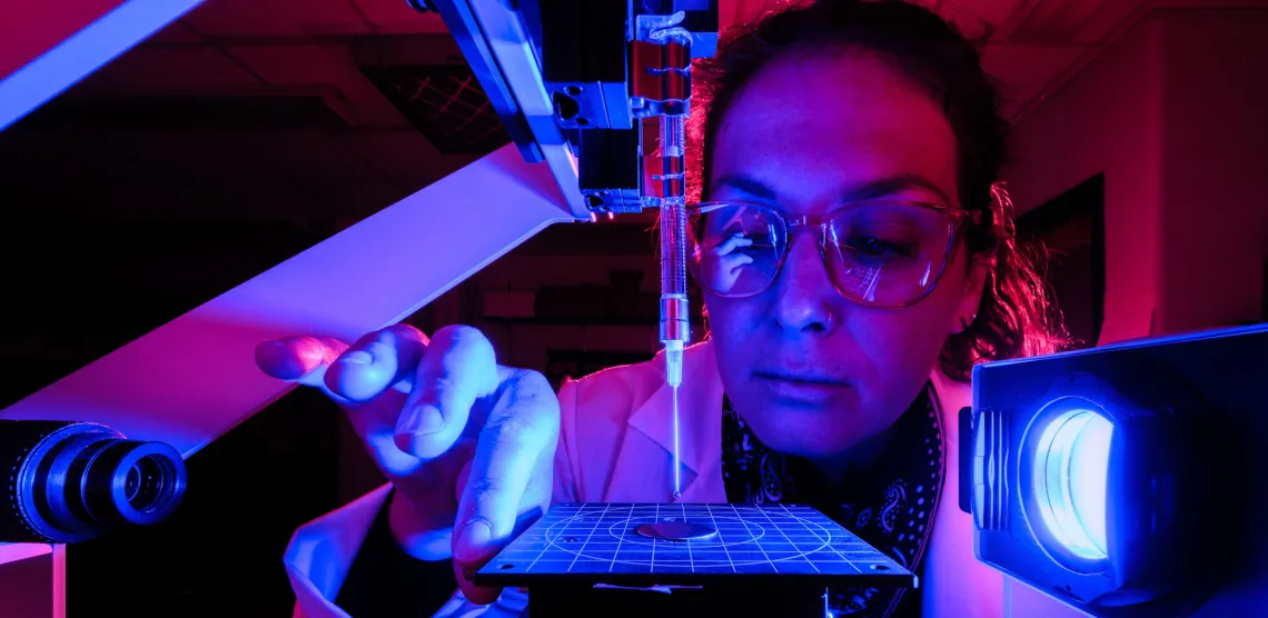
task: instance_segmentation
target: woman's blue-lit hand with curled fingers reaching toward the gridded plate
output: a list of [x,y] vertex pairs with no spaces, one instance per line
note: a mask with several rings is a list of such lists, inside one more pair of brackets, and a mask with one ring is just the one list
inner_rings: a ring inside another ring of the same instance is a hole
[[288,337],[260,344],[256,362],[321,389],[347,413],[396,488],[389,520],[406,551],[445,557],[435,541],[451,529],[463,594],[497,599],[501,590],[476,588],[469,574],[550,504],[559,401],[541,374],[498,366],[470,327],[429,341],[397,324],[353,346]]

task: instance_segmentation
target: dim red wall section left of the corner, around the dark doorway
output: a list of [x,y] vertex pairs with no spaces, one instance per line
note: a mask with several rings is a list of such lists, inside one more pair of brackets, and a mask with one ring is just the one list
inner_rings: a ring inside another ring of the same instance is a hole
[[1149,333],[1158,304],[1161,28],[1148,20],[1014,127],[1004,172],[1018,211],[1106,176],[1099,343]]

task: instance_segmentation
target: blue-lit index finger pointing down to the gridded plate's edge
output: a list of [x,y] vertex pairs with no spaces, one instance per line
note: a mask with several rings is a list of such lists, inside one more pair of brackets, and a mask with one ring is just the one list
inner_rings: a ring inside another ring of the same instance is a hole
[[543,470],[550,470],[558,436],[559,401],[550,384],[540,374],[516,372],[481,431],[458,501],[454,561],[468,572],[492,558],[526,518],[545,512],[550,480]]

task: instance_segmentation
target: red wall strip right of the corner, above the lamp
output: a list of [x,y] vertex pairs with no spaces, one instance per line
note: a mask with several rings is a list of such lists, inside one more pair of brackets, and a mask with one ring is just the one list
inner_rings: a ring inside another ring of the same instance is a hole
[[1164,332],[1264,319],[1268,10],[1161,20]]

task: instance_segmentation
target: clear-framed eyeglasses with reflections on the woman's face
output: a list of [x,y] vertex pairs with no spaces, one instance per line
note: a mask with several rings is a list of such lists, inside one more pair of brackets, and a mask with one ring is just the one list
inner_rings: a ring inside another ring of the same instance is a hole
[[779,277],[796,228],[818,232],[833,286],[867,305],[909,306],[937,286],[961,224],[980,213],[937,204],[869,200],[831,213],[787,214],[739,201],[687,211],[691,276],[718,296],[761,294]]

